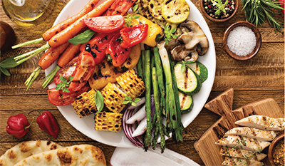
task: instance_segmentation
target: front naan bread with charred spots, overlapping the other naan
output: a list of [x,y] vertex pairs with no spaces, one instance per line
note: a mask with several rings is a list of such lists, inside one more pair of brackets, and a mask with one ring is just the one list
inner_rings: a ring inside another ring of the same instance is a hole
[[15,166],[25,165],[105,166],[106,160],[99,147],[93,145],[74,145],[32,155],[21,160]]

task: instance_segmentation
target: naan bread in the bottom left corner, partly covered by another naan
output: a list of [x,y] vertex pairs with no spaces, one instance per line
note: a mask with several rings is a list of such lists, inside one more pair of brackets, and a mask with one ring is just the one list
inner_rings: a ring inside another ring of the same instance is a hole
[[58,148],[61,148],[61,145],[46,140],[21,142],[7,150],[5,154],[0,157],[0,166],[14,166],[17,162],[24,160],[26,157]]

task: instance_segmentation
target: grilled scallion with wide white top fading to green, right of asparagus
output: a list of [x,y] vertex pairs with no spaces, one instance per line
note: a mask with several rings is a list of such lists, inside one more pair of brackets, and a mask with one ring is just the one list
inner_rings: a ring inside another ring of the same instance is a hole
[[[170,123],[173,129],[176,129],[179,124],[177,124],[177,110],[175,104],[175,97],[173,92],[173,85],[172,85],[172,75],[171,75],[171,68],[170,68],[170,60],[168,58],[168,53],[165,48],[165,41],[162,43],[157,44],[157,48],[159,49],[160,58],[162,61],[163,71],[165,73],[165,90],[166,90],[166,109],[169,109],[170,113]],[[171,125],[167,127],[171,128]]]

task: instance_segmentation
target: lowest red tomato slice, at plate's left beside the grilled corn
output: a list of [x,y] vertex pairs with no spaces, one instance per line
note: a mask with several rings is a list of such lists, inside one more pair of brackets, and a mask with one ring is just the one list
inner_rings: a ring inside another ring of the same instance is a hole
[[63,93],[63,90],[56,90],[56,88],[48,89],[48,101],[56,106],[69,105],[76,100],[78,95],[86,92],[88,88],[89,86],[85,85],[80,90],[71,93]]

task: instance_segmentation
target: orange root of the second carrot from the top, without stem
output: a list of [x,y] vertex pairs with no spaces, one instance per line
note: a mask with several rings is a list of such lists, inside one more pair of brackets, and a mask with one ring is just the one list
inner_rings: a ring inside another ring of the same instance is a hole
[[63,43],[66,43],[68,39],[73,38],[73,36],[76,36],[76,34],[82,31],[83,28],[86,28],[86,24],[83,21],[84,19],[102,15],[109,8],[109,6],[113,4],[114,1],[115,0],[104,1],[103,4],[100,4],[99,6],[95,7],[92,11],[90,11],[88,14],[82,16],[81,19],[78,19],[73,24],[65,28],[63,31],[57,33],[48,41],[49,46],[56,47],[60,46]]

